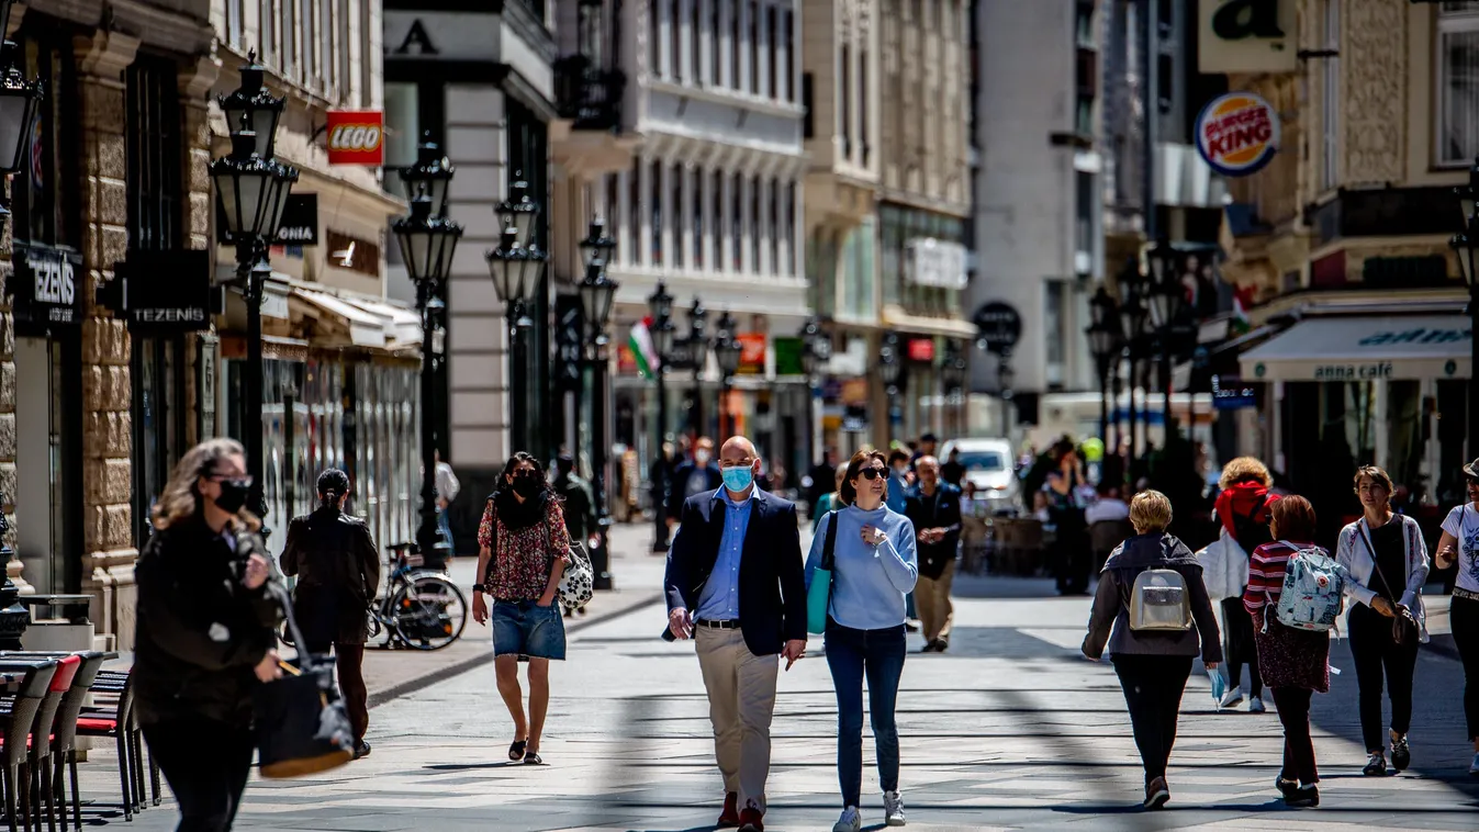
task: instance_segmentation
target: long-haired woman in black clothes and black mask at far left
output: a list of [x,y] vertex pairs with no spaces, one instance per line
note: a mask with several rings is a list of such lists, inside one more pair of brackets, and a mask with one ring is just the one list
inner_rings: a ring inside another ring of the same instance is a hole
[[179,829],[231,829],[256,749],[251,695],[281,675],[281,610],[266,593],[277,578],[260,523],[243,510],[250,489],[240,443],[191,448],[135,570],[136,714],[179,801]]

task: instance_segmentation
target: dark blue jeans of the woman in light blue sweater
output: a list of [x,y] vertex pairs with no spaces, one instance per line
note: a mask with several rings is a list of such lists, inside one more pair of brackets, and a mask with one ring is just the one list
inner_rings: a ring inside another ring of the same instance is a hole
[[904,625],[853,630],[827,619],[827,666],[837,689],[837,780],[843,808],[858,805],[862,792],[862,678],[868,678],[868,720],[884,792],[899,788],[899,727],[893,708],[904,675]]

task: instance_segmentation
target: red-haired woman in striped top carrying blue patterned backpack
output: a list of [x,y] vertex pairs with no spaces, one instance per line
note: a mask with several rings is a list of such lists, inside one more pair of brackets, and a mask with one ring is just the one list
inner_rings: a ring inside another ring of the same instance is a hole
[[[1290,495],[1270,508],[1273,542],[1253,550],[1242,604],[1253,616],[1259,672],[1284,724],[1284,768],[1275,786],[1290,807],[1319,805],[1309,703],[1330,690],[1330,630],[1346,570],[1315,545],[1315,507]],[[1285,587],[1290,593],[1285,594]]]

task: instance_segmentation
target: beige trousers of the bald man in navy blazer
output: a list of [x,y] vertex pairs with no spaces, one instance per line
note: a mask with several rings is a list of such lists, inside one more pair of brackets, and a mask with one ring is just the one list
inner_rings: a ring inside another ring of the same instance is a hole
[[708,690],[708,721],[714,724],[714,757],[725,777],[725,792],[740,795],[740,808],[765,813],[771,717],[781,659],[751,653],[740,630],[695,627],[694,638]]

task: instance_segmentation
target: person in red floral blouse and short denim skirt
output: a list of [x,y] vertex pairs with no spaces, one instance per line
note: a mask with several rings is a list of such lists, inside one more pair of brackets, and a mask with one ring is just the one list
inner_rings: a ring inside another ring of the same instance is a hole
[[[555,603],[561,573],[569,563],[569,536],[561,498],[538,461],[519,451],[503,467],[498,491],[478,525],[478,575],[472,618],[493,619],[498,693],[513,717],[509,760],[538,765],[540,734],[550,703],[550,659],[565,661],[565,622]],[[493,613],[484,593],[493,596]],[[529,709],[524,714],[519,659],[529,661]]]

